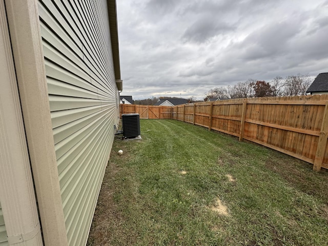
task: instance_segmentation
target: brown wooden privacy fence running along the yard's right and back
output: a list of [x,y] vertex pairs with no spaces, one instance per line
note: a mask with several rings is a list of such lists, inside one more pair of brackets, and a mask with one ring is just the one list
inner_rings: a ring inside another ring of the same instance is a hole
[[121,105],[140,118],[176,119],[247,139],[328,169],[328,95],[264,97],[179,105]]

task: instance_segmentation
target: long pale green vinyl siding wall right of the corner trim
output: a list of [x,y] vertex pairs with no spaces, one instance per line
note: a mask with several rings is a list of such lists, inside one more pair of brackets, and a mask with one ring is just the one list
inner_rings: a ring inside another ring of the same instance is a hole
[[107,1],[39,1],[69,245],[85,245],[118,124]]

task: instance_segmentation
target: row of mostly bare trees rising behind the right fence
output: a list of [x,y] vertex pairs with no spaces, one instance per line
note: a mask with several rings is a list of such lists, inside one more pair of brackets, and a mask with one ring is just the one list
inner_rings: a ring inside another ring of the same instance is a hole
[[248,79],[234,86],[216,87],[206,93],[206,98],[249,98],[264,96],[304,95],[312,81],[309,75],[276,76],[272,81]]

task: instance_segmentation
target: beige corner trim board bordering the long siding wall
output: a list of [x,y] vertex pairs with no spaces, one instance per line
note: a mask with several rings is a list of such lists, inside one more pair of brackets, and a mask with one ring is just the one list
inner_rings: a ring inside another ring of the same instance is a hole
[[66,246],[37,1],[5,4],[44,244]]

